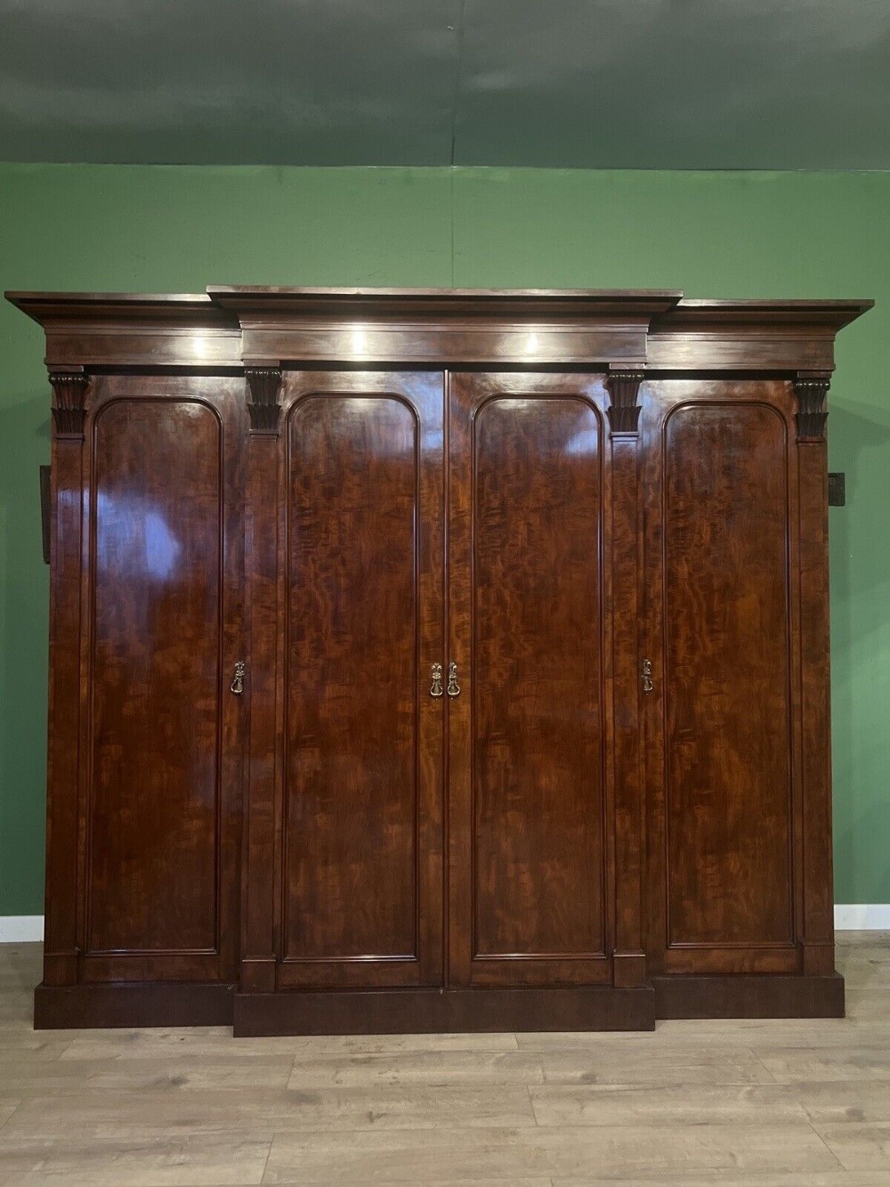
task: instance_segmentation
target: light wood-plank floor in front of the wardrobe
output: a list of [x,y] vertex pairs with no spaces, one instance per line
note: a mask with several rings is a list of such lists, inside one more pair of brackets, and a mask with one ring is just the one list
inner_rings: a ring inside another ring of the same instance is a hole
[[0,1185],[889,1187],[890,933],[840,933],[848,1017],[655,1034],[34,1032],[0,946]]

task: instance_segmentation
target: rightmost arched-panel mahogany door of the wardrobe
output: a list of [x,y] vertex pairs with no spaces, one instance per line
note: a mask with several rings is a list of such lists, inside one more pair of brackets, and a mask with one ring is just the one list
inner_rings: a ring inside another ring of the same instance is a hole
[[781,382],[679,380],[643,412],[656,971],[799,971],[793,413]]

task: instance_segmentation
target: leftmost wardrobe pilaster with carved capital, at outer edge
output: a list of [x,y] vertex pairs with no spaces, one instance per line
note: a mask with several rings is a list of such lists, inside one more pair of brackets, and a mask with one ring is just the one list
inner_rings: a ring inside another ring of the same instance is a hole
[[44,984],[77,982],[83,425],[89,377],[53,370]]

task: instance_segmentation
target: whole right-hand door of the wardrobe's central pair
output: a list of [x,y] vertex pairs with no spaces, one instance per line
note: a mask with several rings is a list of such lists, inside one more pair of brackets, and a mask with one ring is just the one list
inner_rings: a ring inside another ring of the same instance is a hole
[[610,979],[603,401],[597,376],[451,376],[454,985]]

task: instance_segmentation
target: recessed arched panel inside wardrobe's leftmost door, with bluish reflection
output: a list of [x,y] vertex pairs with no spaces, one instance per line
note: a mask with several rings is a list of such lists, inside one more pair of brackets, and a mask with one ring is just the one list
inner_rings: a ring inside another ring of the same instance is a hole
[[93,419],[89,956],[215,947],[221,444],[192,400]]

